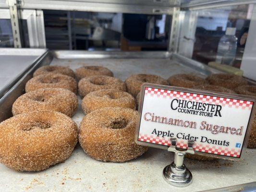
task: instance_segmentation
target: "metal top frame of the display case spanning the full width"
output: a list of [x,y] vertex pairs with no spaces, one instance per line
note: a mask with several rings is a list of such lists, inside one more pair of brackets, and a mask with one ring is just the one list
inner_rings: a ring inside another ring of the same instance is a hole
[[[256,3],[256,0],[21,0],[20,7],[85,12],[172,14],[173,7],[199,10],[251,3]],[[0,8],[9,8],[5,0],[0,0]]]

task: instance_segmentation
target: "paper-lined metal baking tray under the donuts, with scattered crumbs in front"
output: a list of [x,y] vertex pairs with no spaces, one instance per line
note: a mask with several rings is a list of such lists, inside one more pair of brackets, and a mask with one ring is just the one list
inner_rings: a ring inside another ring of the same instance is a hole
[[[50,59],[50,65],[68,66],[73,70],[85,65],[102,65],[108,67],[113,71],[114,77],[121,80],[125,80],[133,73],[151,73],[168,78],[177,73],[196,73],[206,76],[218,72],[194,60],[162,51],[53,51],[52,55],[53,60]],[[50,54],[46,55],[44,60],[48,57]],[[78,99],[79,107],[73,116],[77,125],[85,116],[79,96]],[[194,177],[192,184],[185,188],[171,186],[162,178],[163,168],[173,159],[173,153],[150,148],[137,159],[125,163],[106,163],[90,158],[77,144],[70,158],[44,171],[19,173],[0,164],[0,191],[197,192],[256,181],[255,150],[247,149],[242,161],[202,162],[185,158],[184,163]]]

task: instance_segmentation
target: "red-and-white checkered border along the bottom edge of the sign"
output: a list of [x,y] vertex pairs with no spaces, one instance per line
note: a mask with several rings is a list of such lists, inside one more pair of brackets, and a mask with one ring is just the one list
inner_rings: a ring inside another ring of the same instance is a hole
[[[165,137],[154,137],[153,135],[146,135],[146,134],[139,134],[138,141],[143,141],[151,144],[160,144],[160,145],[166,145],[170,146],[171,145],[171,140]],[[184,140],[180,140],[176,144],[177,147],[186,149],[187,143],[184,142]],[[232,157],[240,157],[241,154],[241,149],[228,149],[228,147],[222,148],[219,146],[210,146],[208,144],[203,145],[203,144],[194,144],[193,149],[195,151],[199,152],[205,152],[205,153],[210,153],[210,154],[217,154],[221,156],[232,156]]]

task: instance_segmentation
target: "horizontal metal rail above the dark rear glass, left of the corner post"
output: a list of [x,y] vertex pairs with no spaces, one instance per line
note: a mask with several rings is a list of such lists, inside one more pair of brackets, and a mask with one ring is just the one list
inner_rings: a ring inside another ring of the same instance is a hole
[[[0,5],[2,5],[0,0]],[[176,0],[23,0],[23,9],[171,14]]]

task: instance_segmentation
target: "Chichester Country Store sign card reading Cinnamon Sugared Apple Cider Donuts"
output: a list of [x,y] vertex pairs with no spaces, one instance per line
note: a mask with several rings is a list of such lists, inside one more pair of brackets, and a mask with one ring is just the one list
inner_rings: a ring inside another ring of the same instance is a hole
[[167,149],[170,138],[196,153],[241,158],[255,113],[255,97],[143,84],[137,144]]

